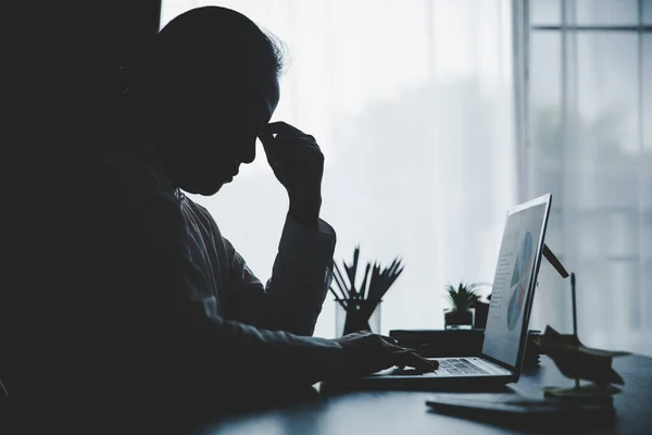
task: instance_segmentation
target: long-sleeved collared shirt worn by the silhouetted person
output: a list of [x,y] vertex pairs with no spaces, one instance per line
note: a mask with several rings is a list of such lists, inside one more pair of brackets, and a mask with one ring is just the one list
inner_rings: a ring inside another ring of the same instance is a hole
[[90,249],[102,251],[93,273],[121,322],[98,328],[112,349],[130,341],[122,364],[206,388],[234,376],[312,385],[342,369],[341,346],[311,337],[331,277],[327,223],[288,216],[263,285],[210,213],[175,191],[152,149],[120,132],[99,137],[82,159]]

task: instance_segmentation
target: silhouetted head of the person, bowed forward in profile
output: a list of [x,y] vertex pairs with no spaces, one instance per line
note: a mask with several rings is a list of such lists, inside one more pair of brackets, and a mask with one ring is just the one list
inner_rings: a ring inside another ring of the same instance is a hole
[[280,69],[278,46],[228,9],[191,10],[155,36],[129,92],[177,187],[213,195],[253,161]]

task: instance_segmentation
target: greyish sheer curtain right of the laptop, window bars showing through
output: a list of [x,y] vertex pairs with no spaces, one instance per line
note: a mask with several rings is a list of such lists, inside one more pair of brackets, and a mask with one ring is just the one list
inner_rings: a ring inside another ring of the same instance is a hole
[[[553,194],[580,339],[652,355],[652,1],[527,3],[525,195]],[[570,332],[569,284],[540,283],[536,322]]]

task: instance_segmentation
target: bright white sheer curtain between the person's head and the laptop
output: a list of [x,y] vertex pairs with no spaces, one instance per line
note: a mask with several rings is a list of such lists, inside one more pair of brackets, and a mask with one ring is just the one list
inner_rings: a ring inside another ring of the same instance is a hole
[[[314,135],[326,156],[336,261],[358,244],[363,261],[403,258],[381,332],[442,327],[443,285],[492,279],[516,201],[510,0],[164,0],[161,25],[208,4],[287,45],[273,120]],[[262,147],[233,184],[197,200],[266,279],[287,198]],[[329,296],[316,335],[334,334]]]

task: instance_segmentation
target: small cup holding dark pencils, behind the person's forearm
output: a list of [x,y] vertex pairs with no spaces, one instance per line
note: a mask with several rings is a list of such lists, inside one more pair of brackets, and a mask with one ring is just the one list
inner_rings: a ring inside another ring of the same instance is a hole
[[335,336],[371,331],[380,334],[380,303],[364,299],[335,299]]

